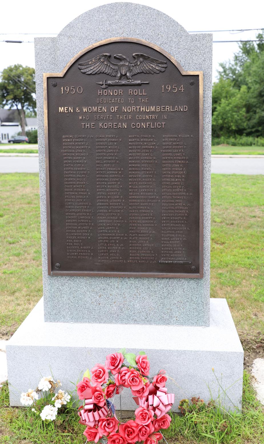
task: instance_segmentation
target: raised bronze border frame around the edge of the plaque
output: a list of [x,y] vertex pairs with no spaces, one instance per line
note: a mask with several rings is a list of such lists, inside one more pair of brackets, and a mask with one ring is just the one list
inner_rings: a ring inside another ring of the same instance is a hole
[[[47,79],[64,77],[69,67],[79,57],[91,49],[113,42],[133,42],[148,46],[163,54],[180,71],[181,75],[197,75],[199,77],[199,273],[135,273],[116,271],[59,271],[51,270],[51,207],[50,207],[50,178],[49,178],[49,147],[48,147],[48,112],[47,112]],[[203,199],[203,71],[185,71],[177,60],[167,51],[146,40],[132,37],[113,37],[94,43],[78,52],[63,68],[61,72],[43,73],[43,99],[44,99],[44,140],[45,140],[45,170],[46,170],[46,210],[47,210],[47,271],[49,276],[102,276],[102,277],[174,277],[198,278],[204,276],[204,199]]]

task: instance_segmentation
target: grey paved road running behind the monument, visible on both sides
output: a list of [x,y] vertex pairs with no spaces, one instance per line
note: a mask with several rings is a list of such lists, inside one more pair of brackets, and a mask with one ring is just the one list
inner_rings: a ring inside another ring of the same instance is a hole
[[[0,173],[38,173],[39,158],[32,154],[0,155]],[[264,174],[264,156],[212,156],[212,173]]]

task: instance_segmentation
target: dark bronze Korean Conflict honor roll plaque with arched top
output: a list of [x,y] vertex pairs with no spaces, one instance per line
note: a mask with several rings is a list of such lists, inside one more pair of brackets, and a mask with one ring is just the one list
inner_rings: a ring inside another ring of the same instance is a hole
[[203,276],[202,90],[129,38],[44,74],[49,274]]

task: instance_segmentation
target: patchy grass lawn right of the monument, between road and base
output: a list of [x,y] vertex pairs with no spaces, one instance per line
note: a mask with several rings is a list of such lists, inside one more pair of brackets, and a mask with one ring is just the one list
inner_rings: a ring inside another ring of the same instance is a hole
[[211,297],[227,299],[248,364],[264,356],[263,196],[264,176],[212,174]]

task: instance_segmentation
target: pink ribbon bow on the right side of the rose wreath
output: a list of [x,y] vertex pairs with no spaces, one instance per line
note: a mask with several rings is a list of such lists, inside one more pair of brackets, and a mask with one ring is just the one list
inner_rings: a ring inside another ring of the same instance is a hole
[[157,419],[161,418],[172,408],[174,393],[167,393],[165,387],[160,387],[156,394],[149,394],[145,398],[138,398],[141,407],[153,410]]

